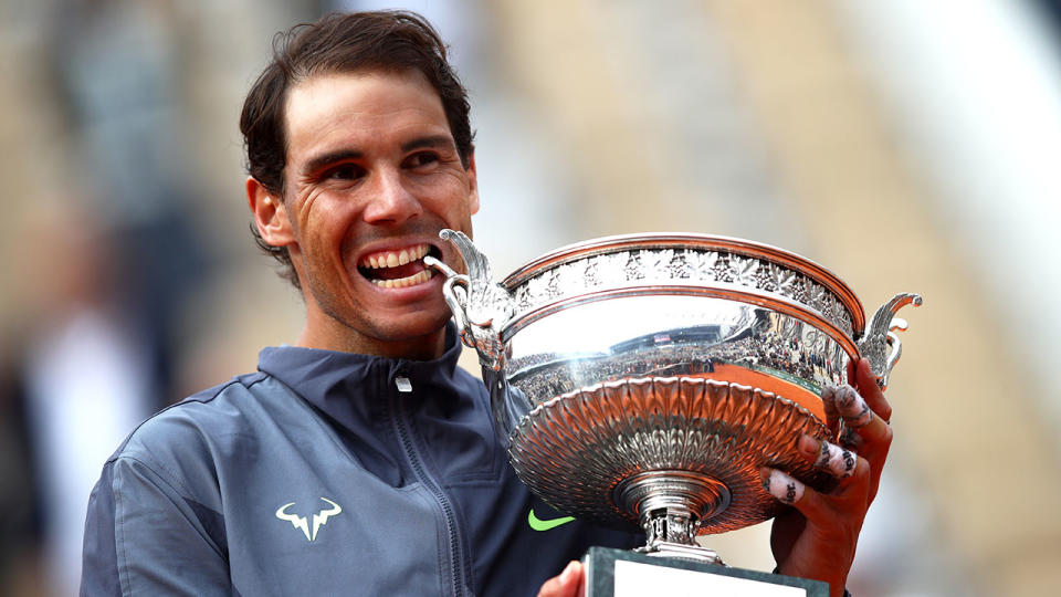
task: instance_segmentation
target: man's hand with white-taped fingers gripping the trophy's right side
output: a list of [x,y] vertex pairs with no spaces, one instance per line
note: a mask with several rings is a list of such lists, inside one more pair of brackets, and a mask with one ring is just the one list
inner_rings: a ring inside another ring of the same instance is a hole
[[840,386],[822,392],[827,412],[843,422],[842,447],[809,436],[799,440],[800,453],[837,476],[837,486],[819,493],[781,471],[760,471],[767,491],[794,506],[774,520],[770,547],[778,572],[824,580],[833,596],[843,595],[862,521],[876,496],[892,443],[887,425],[892,407],[878,387],[869,360],[849,364],[848,379],[854,380],[858,391]]

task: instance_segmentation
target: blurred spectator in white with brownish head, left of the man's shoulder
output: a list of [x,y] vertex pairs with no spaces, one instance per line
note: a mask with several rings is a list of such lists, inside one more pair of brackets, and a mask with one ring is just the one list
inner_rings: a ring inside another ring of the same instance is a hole
[[[75,205],[28,235],[20,279],[32,287],[20,384],[46,578],[74,595],[88,493],[114,448],[154,409],[146,337],[126,315],[109,239]],[[30,492],[21,492],[25,499]]]

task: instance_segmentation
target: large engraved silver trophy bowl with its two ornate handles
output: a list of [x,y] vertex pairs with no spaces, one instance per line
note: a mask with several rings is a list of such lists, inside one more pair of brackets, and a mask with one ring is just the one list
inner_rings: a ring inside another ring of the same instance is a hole
[[[593,239],[494,283],[466,235],[468,266],[437,260],[462,342],[474,347],[519,479],[582,520],[641,527],[647,551],[773,517],[758,469],[817,489],[807,433],[837,441],[820,398],[865,356],[883,387],[901,355],[900,294],[866,324],[821,265],[752,241],[692,233]],[[430,258],[429,258],[430,259]]]

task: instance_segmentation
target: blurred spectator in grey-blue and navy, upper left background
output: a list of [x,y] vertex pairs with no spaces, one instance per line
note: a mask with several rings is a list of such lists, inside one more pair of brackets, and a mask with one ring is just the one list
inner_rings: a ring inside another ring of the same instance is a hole
[[56,14],[54,63],[87,160],[83,190],[113,239],[113,283],[124,317],[143,328],[162,406],[177,398],[177,315],[209,273],[191,220],[179,19],[171,2],[143,0],[65,0]]

